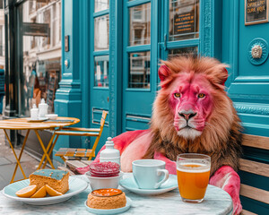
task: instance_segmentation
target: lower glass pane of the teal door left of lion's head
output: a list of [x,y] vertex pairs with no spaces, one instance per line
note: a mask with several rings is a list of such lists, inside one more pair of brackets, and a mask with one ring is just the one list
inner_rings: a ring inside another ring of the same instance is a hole
[[151,52],[129,54],[129,88],[151,87]]

